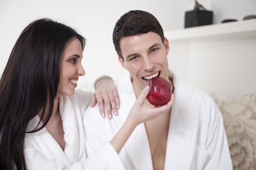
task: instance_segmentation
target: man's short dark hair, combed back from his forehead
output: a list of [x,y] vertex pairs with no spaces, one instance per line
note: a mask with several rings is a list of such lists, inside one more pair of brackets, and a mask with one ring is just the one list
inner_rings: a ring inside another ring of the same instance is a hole
[[164,32],[156,17],[146,11],[129,11],[116,22],[113,31],[113,43],[119,57],[124,60],[120,49],[120,39],[124,36],[147,32],[157,33],[164,43]]

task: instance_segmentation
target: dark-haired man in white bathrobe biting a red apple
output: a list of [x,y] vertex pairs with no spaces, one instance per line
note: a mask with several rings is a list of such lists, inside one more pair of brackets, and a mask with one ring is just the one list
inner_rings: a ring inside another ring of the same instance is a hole
[[170,47],[157,19],[145,11],[125,13],[115,25],[113,42],[122,67],[130,73],[117,86],[128,92],[119,89],[118,117],[100,119],[97,107],[84,113],[86,148],[91,148],[87,155],[117,133],[147,79],[160,76],[172,83],[174,103],[133,131],[119,153],[125,169],[232,169],[220,111],[211,97],[168,71]]

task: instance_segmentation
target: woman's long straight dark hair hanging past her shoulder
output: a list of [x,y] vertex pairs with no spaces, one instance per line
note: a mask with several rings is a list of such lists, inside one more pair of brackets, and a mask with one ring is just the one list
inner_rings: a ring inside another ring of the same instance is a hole
[[28,122],[42,109],[40,131],[52,116],[60,77],[60,55],[76,36],[74,29],[48,18],[29,24],[20,34],[0,80],[0,169],[26,170],[24,138]]

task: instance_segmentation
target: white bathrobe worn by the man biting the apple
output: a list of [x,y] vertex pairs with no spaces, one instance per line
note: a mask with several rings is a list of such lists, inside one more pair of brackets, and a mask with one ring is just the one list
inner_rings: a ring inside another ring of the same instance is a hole
[[[220,110],[212,98],[188,86],[172,73],[174,103],[167,140],[164,169],[231,170],[231,158]],[[118,83],[120,96],[119,115],[113,119],[102,118],[97,107],[88,107],[83,124],[90,156],[106,141],[110,141],[121,128],[136,97],[130,74]],[[126,89],[126,90],[125,90]],[[140,124],[119,153],[126,170],[153,169],[144,124]],[[109,158],[112,159],[112,158]]]

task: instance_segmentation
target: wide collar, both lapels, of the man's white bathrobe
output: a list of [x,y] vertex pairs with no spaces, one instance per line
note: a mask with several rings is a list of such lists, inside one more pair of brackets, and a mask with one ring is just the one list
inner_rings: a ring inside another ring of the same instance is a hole
[[[190,87],[184,81],[179,80],[169,72],[169,78],[173,78],[174,103],[172,105],[170,126],[167,139],[165,157],[165,169],[189,169],[197,138],[198,104]],[[136,100],[132,87],[131,75],[128,74],[123,81],[118,83],[120,96],[119,116],[113,117],[118,130],[124,124],[125,119]],[[127,91],[120,91],[127,87]],[[117,131],[116,131],[117,132]],[[128,157],[135,169],[153,169],[147,132],[144,124],[140,124],[124,145]]]

